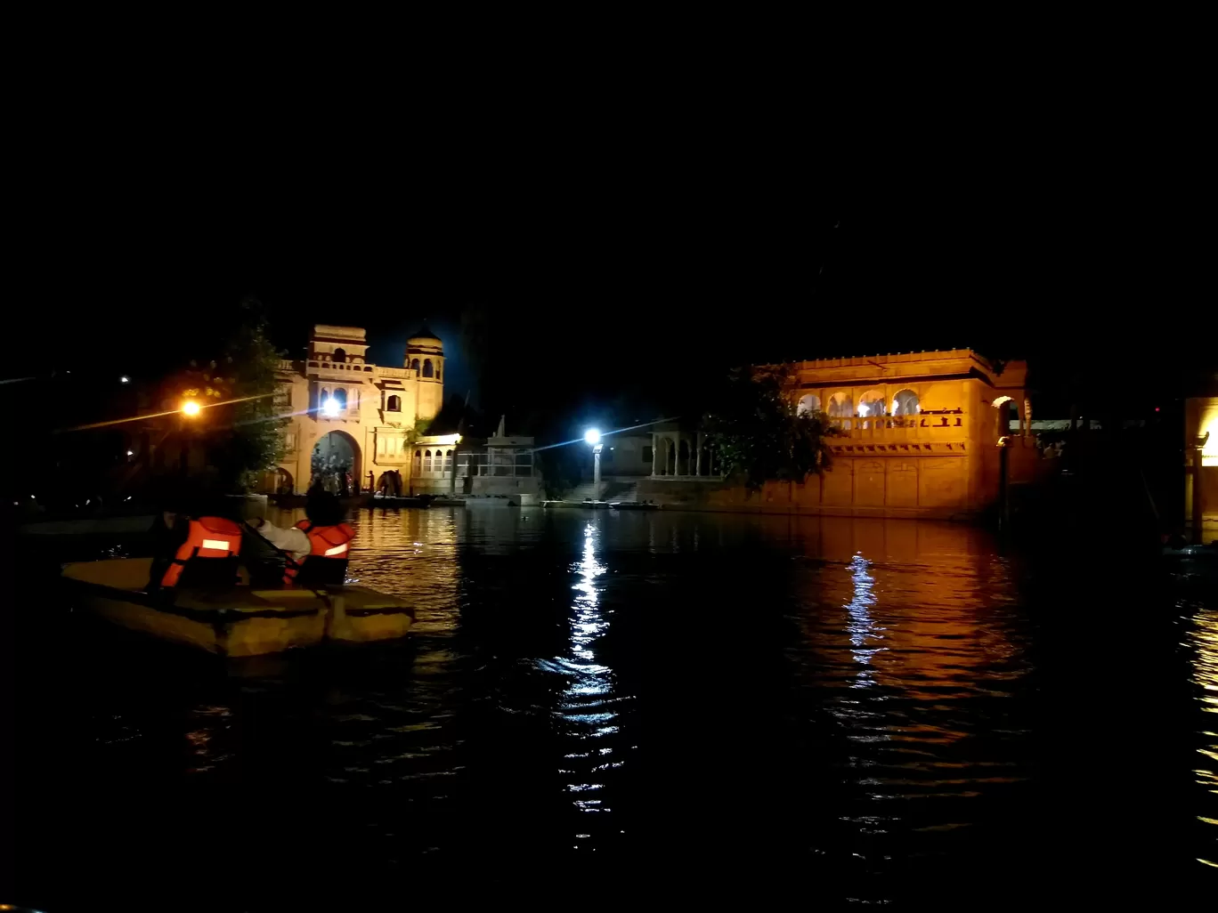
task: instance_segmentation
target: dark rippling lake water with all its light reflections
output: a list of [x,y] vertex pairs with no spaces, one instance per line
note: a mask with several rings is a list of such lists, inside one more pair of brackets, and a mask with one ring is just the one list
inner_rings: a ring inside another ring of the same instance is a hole
[[404,646],[235,674],[29,622],[16,900],[980,908],[1218,874],[1218,600],[1158,568],[911,521],[354,526]]

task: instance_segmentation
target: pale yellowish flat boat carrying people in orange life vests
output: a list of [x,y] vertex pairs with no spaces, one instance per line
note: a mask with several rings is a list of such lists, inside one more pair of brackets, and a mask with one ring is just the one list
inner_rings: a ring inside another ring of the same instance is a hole
[[367,587],[147,593],[151,558],[77,561],[63,579],[80,604],[132,631],[220,656],[261,656],[323,642],[369,643],[406,637],[414,610]]

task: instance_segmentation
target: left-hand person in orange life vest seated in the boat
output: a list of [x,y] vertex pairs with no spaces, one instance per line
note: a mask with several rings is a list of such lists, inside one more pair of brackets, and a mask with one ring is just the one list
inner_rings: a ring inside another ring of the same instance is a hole
[[149,592],[235,586],[242,530],[234,499],[188,495],[167,504],[152,526]]

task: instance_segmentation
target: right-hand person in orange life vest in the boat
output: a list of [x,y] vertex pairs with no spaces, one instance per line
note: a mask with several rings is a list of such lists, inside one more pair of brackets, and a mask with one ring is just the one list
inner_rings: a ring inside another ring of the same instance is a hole
[[304,520],[283,528],[262,517],[246,522],[291,561],[284,570],[285,587],[341,586],[347,578],[347,556],[356,532],[343,521],[346,510],[330,492],[314,487],[304,502]]

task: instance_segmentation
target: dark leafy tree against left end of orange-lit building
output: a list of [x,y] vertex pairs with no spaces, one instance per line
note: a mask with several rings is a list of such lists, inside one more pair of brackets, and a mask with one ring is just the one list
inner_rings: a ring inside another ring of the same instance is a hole
[[838,432],[823,413],[798,414],[790,365],[734,370],[703,418],[725,472],[758,491],[769,481],[803,482],[831,461]]

